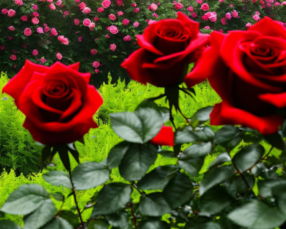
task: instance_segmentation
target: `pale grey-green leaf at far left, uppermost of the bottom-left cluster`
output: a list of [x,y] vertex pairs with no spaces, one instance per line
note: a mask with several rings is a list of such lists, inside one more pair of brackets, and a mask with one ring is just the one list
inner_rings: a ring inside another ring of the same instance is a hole
[[41,206],[49,198],[49,195],[41,185],[24,184],[9,195],[1,211],[10,214],[26,215]]

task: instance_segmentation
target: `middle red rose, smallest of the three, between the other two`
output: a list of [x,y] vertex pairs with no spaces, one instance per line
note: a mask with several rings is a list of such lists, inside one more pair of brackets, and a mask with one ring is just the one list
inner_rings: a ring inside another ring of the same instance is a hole
[[164,19],[136,35],[142,48],[121,64],[133,80],[158,87],[182,82],[188,64],[194,62],[209,43],[209,35],[199,32],[199,23],[182,12],[177,19]]

